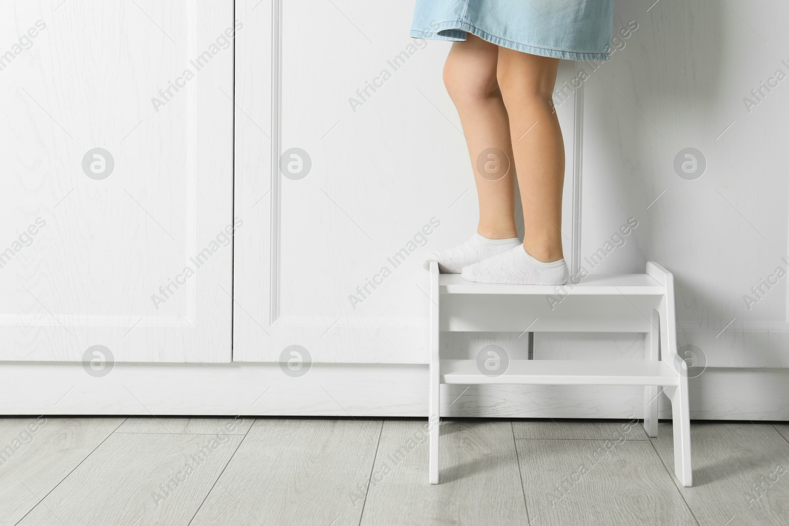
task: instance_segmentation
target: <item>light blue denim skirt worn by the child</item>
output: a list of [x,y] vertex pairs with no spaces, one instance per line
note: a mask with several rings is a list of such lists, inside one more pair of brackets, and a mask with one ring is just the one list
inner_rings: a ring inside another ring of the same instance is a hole
[[614,0],[417,0],[411,36],[466,40],[543,57],[608,60]]

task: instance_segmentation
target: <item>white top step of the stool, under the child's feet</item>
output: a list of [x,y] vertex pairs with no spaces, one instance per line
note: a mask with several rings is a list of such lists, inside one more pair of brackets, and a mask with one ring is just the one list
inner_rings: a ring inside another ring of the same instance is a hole
[[439,274],[441,294],[553,294],[660,296],[665,287],[649,274],[589,275],[567,285],[498,285],[467,282],[460,274]]

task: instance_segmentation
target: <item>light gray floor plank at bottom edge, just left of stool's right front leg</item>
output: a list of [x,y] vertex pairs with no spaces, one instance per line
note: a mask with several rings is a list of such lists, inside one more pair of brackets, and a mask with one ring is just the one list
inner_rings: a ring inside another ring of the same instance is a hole
[[533,526],[696,524],[648,441],[516,443]]

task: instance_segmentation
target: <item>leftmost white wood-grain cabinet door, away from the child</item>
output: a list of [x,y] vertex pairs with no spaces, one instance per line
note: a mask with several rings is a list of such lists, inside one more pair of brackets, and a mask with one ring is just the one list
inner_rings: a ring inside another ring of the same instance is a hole
[[0,3],[0,360],[232,359],[234,23]]

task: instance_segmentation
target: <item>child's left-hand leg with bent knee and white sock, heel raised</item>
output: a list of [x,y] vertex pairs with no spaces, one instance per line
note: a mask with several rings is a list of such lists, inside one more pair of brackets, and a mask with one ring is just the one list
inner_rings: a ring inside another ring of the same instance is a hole
[[[498,46],[469,34],[465,42],[452,44],[444,65],[444,84],[458,109],[469,147],[480,200],[480,222],[477,233],[466,243],[428,256],[428,260],[439,262],[442,272],[460,273],[467,265],[520,244],[514,220],[510,129],[507,110],[496,84],[498,54]],[[505,159],[486,157],[483,162],[489,167],[496,162],[510,166],[504,177],[496,172],[480,173],[478,159],[488,148],[503,152]]]

